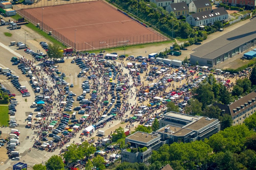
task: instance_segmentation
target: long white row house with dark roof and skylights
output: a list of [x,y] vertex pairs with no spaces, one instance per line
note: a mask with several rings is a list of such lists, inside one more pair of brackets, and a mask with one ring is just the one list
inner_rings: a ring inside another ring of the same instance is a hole
[[[197,0],[198,1],[198,0]],[[228,18],[228,12],[224,7],[194,13],[186,18],[186,22],[194,27],[213,25],[215,21],[222,21]]]

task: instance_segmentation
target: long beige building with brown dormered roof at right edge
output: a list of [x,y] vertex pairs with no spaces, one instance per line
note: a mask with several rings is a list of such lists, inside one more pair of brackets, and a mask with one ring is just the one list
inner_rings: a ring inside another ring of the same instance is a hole
[[253,91],[246,96],[241,97],[237,101],[229,105],[214,103],[222,111],[222,114],[229,114],[232,116],[232,125],[241,125],[244,119],[249,117],[256,111],[256,92]]

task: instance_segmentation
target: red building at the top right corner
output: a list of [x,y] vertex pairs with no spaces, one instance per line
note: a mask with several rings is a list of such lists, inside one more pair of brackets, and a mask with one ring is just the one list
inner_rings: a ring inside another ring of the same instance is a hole
[[222,0],[223,4],[228,6],[235,6],[239,8],[245,7],[245,9],[255,9],[256,0]]

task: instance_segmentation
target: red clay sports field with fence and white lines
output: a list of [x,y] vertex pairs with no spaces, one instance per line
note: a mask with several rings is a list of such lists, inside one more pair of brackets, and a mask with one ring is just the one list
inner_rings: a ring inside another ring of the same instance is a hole
[[[30,8],[18,11],[45,32],[76,50],[110,48],[166,40],[103,1]],[[76,45],[74,45],[76,42]]]

